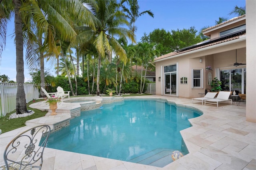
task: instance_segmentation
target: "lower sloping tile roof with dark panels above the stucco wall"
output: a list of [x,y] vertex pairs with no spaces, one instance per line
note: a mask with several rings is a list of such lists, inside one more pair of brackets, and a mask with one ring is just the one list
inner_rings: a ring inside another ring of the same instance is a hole
[[201,48],[209,47],[209,46],[212,46],[212,45],[228,42],[228,41],[231,41],[231,40],[236,40],[236,39],[238,39],[238,38],[240,38],[241,36],[244,36],[244,35],[246,35],[246,31],[242,31],[242,32],[230,35],[230,36],[214,39],[214,40],[211,40],[211,41],[206,40],[205,43],[201,42],[199,45],[195,44],[195,45],[187,47],[185,49],[181,49],[181,50],[174,51],[174,52],[162,55],[160,57],[157,57],[157,58],[154,59],[154,61],[159,60],[159,59],[164,59],[166,57],[172,57],[174,55],[186,53],[188,51],[193,51],[193,50],[196,50],[196,49],[201,49]]

